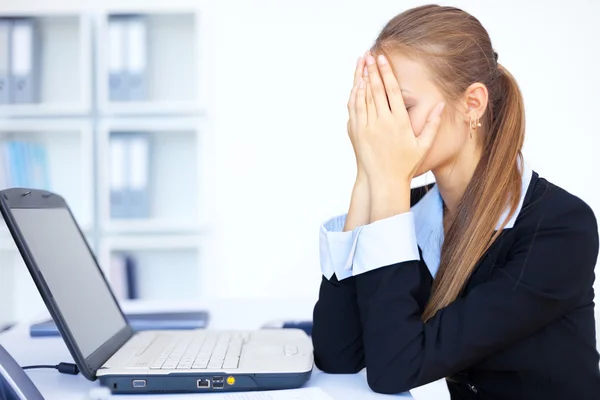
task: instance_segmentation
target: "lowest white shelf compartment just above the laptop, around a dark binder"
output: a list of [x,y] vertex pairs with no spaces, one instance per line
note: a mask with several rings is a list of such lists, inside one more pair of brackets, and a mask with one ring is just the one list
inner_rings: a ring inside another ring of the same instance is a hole
[[200,239],[194,236],[119,237],[105,239],[100,263],[117,298],[124,282],[115,255],[131,257],[138,300],[184,301],[198,298],[201,268]]

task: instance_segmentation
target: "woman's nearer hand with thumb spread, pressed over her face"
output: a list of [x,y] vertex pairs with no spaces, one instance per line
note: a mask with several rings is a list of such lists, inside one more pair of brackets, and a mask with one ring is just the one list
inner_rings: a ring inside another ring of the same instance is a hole
[[[413,132],[398,80],[387,60],[367,56],[356,91],[357,138],[372,189],[409,184],[429,152],[445,103],[437,104],[421,134]],[[375,187],[373,187],[373,185]]]

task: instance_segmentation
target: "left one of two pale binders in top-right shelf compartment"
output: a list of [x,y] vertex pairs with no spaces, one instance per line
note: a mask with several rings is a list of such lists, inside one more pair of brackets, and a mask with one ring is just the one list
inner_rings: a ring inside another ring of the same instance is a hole
[[108,97],[110,101],[126,101],[128,98],[125,70],[126,23],[121,17],[108,19]]

